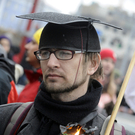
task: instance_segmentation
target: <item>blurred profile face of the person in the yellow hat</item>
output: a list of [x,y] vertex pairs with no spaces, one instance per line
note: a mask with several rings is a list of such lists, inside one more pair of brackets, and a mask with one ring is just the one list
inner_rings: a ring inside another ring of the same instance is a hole
[[38,50],[38,44],[36,41],[32,40],[28,44],[25,45],[26,49],[26,61],[29,62],[32,66],[39,63],[34,55],[34,51]]

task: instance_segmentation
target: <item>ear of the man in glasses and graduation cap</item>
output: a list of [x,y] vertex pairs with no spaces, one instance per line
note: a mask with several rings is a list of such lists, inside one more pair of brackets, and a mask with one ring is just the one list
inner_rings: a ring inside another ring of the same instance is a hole
[[100,57],[99,54],[96,55],[96,56],[94,56],[94,58],[92,59],[92,61],[89,61],[88,75],[93,75],[97,71],[100,62],[101,62],[101,57]]

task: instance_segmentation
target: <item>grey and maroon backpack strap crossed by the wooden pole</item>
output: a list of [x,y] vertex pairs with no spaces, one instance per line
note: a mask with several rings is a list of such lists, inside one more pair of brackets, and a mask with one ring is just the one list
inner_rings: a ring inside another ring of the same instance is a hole
[[[101,132],[100,132],[100,135],[104,135],[106,127],[107,127],[108,122],[110,120],[110,117],[111,116],[108,116],[105,119],[103,126],[102,126],[102,129],[101,129]],[[110,135],[126,135],[125,128],[122,125],[118,124],[117,121],[115,120],[115,122],[112,126],[112,129],[111,129]]]

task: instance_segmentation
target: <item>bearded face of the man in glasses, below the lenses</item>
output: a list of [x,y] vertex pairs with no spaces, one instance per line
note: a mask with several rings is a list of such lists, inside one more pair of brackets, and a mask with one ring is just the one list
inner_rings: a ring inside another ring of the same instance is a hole
[[86,82],[87,63],[82,62],[83,54],[74,54],[71,60],[58,60],[52,53],[48,60],[41,60],[45,88],[50,93],[72,91]]

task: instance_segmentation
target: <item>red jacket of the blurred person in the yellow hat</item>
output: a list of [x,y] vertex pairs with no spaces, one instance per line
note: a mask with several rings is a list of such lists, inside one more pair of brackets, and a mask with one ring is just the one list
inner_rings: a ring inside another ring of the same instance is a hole
[[41,68],[37,70],[25,70],[25,74],[29,83],[20,93],[17,102],[32,102],[39,91],[39,86],[42,80]]

